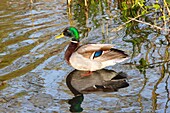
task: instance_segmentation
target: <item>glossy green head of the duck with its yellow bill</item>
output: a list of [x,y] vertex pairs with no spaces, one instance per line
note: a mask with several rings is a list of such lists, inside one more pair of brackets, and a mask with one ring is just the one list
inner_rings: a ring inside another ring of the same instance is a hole
[[67,27],[64,29],[64,31],[56,36],[56,39],[62,38],[64,36],[72,38],[72,41],[79,41],[79,32],[75,27]]

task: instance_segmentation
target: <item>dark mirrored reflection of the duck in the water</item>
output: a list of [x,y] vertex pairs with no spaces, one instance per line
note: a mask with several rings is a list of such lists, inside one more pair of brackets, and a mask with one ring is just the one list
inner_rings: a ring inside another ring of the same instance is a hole
[[95,92],[114,92],[120,88],[128,87],[127,74],[124,72],[115,72],[113,70],[102,69],[93,72],[90,76],[82,76],[85,72],[74,70],[66,78],[66,84],[74,94],[69,104],[71,112],[81,112],[81,103],[83,94]]

